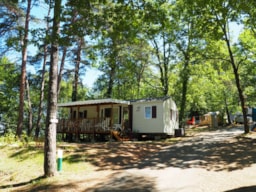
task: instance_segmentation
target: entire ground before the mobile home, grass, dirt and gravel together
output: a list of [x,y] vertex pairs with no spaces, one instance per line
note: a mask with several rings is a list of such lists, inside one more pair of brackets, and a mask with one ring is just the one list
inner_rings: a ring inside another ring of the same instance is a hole
[[1,191],[255,191],[255,139],[241,128],[161,142],[66,144],[63,170],[42,179],[42,148],[0,147]]

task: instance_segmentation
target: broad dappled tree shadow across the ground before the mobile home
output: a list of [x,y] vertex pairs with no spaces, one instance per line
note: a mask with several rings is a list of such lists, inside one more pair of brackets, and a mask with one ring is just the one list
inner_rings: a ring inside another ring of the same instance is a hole
[[[171,145],[164,142],[96,143],[80,145],[79,151],[83,153],[79,157],[79,152],[75,152],[75,159],[86,159],[98,170],[178,167],[233,171],[256,163],[256,143],[249,138],[218,142],[186,140]],[[82,158],[83,155],[86,158]]]

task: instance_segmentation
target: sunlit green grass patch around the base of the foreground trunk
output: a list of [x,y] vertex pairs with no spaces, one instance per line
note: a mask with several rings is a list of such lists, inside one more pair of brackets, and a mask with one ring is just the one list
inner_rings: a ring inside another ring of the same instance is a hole
[[14,186],[20,185],[45,186],[72,175],[92,172],[93,166],[88,162],[85,152],[77,146],[61,143],[58,148],[64,149],[62,172],[54,178],[42,179],[43,147],[35,147],[32,142],[21,146],[19,142],[0,141],[0,191],[11,191]]

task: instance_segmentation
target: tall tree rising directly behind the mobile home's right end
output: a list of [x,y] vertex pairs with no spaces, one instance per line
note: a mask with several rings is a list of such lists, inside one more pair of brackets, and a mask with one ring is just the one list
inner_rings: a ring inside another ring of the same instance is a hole
[[176,36],[174,41],[176,49],[174,52],[177,53],[176,61],[182,63],[179,75],[181,82],[179,121],[180,125],[182,125],[185,122],[191,65],[199,63],[197,52],[199,52],[200,47],[200,32],[196,29],[196,16],[194,15],[193,7],[181,0],[176,3],[173,12],[173,19],[176,20],[176,26],[173,25]]

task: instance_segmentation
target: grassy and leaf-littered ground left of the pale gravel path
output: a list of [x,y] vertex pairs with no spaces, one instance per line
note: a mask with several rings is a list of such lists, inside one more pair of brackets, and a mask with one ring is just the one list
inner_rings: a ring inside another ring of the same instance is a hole
[[20,145],[19,142],[0,141],[0,191],[58,191],[74,180],[97,175],[99,170],[111,171],[136,164],[178,139],[88,144],[58,142],[57,149],[63,150],[62,171],[51,178],[42,178],[43,143],[38,147],[35,142]]

